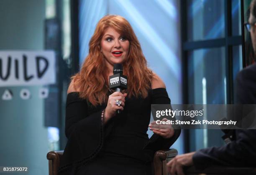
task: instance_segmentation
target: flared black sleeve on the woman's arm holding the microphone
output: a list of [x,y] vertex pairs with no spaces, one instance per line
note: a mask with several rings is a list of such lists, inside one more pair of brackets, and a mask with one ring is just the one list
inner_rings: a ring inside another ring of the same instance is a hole
[[102,109],[88,113],[86,100],[78,92],[67,95],[65,134],[68,138],[59,172],[75,169],[93,158],[103,144]]

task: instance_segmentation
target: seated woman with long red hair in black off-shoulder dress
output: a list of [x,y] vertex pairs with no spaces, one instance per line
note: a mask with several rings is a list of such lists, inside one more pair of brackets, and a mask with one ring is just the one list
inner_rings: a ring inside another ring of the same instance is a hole
[[[110,90],[114,64],[123,65],[127,90]],[[121,16],[107,15],[99,21],[89,54],[67,93],[68,142],[61,175],[150,175],[154,153],[168,149],[179,137],[180,130],[149,124],[151,104],[170,104],[170,99],[164,82],[147,67],[131,25]],[[150,139],[148,127],[154,132]]]

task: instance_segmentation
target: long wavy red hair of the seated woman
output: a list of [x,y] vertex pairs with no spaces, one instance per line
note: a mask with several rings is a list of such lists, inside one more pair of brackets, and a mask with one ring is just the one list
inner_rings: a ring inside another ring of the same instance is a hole
[[141,45],[130,23],[119,15],[106,15],[97,24],[89,43],[87,55],[79,73],[74,75],[74,87],[78,87],[80,97],[87,99],[92,105],[102,105],[108,101],[108,72],[105,58],[100,52],[100,42],[107,28],[114,28],[130,42],[127,59],[123,62],[123,74],[128,77],[128,97],[148,95],[151,88],[153,72],[147,67]]

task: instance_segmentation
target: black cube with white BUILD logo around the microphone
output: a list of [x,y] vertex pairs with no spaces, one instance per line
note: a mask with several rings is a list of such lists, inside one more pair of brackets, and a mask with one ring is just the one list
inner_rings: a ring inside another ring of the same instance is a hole
[[127,89],[127,77],[120,73],[111,75],[109,77],[109,87],[113,90],[116,88],[120,88],[122,90]]

